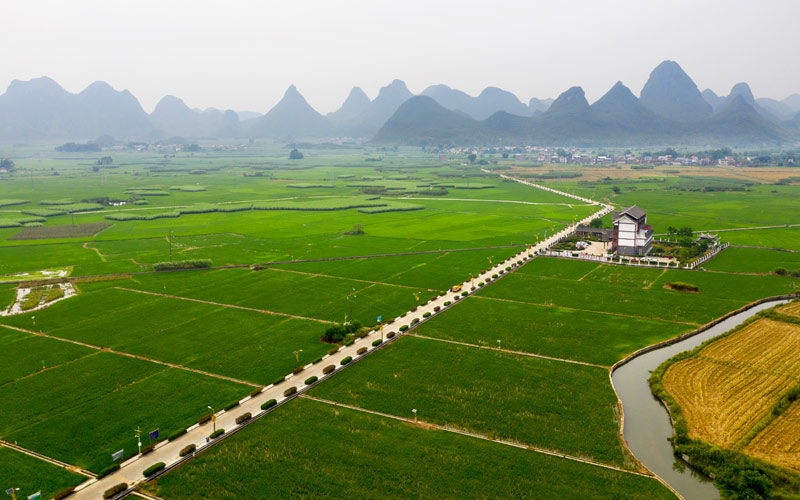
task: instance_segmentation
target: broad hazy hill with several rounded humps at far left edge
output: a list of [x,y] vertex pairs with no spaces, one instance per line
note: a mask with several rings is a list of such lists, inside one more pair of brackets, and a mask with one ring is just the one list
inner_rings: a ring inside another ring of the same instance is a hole
[[3,140],[138,138],[151,130],[139,101],[127,90],[116,91],[105,82],[72,94],[47,77],[14,80],[0,95]]

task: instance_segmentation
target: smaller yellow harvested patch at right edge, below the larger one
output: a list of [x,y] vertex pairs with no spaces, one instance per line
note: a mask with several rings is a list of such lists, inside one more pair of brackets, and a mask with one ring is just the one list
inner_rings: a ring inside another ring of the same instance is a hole
[[800,401],[761,431],[744,452],[800,472]]

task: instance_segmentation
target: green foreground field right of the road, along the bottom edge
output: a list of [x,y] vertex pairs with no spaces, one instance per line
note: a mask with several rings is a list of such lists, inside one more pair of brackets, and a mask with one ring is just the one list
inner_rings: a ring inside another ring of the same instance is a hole
[[332,491],[352,498],[674,498],[646,477],[304,399],[147,489],[174,500],[264,491],[281,498]]

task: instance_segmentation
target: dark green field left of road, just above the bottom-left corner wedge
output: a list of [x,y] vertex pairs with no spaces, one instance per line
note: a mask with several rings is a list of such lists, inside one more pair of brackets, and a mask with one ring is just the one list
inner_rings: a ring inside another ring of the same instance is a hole
[[248,393],[247,386],[95,352],[0,386],[0,438],[99,472],[111,453],[133,454],[137,426],[166,436],[191,425],[206,405]]

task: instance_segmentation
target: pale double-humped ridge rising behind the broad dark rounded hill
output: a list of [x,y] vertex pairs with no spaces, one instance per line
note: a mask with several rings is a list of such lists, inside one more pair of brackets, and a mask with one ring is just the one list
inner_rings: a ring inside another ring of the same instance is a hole
[[447,85],[432,85],[422,91],[439,104],[452,111],[461,111],[476,120],[484,120],[498,111],[518,116],[530,115],[530,110],[511,92],[497,87],[486,87],[477,97],[472,97]]

